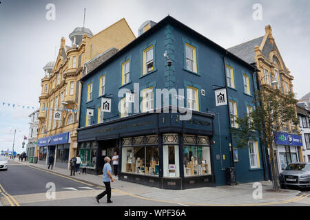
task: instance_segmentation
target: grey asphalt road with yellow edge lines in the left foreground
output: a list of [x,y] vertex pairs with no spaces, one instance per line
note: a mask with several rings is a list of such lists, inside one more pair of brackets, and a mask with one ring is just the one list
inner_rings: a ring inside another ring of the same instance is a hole
[[[0,171],[0,199],[3,206],[171,206],[169,203],[147,201],[113,190],[113,203],[107,204],[105,197],[101,203],[97,203],[94,197],[104,190],[101,186],[48,173],[13,160],[8,163],[8,170]],[[48,198],[52,195],[48,192],[48,183],[55,186],[55,198]]]

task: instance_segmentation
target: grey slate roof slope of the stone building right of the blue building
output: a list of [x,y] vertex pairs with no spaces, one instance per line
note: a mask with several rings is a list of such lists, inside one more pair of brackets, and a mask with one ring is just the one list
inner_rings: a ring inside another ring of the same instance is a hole
[[254,48],[255,46],[260,46],[260,44],[262,43],[262,39],[264,39],[264,36],[260,36],[257,39],[241,43],[234,47],[230,47],[227,50],[235,54],[236,56],[239,56],[240,58],[242,58],[242,60],[247,61],[247,63],[255,63]]

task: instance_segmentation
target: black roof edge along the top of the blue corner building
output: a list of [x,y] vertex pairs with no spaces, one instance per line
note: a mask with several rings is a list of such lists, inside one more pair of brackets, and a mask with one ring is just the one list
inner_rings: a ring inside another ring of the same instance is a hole
[[146,39],[148,36],[151,36],[154,32],[156,32],[157,30],[159,30],[160,28],[163,28],[165,25],[168,25],[168,24],[173,25],[175,27],[178,27],[181,30],[183,30],[184,32],[189,32],[189,34],[191,34],[192,36],[196,37],[200,41],[203,41],[204,43],[207,43],[207,44],[215,47],[216,50],[219,50],[220,52],[223,52],[223,55],[226,54],[227,56],[230,56],[231,58],[234,58],[238,62],[242,63],[243,65],[246,65],[247,67],[249,67],[250,69],[253,69],[254,71],[258,70],[254,65],[251,65],[250,63],[247,63],[245,60],[243,60],[242,58],[240,58],[240,57],[236,56],[235,54],[229,52],[224,47],[221,47],[220,45],[214,43],[214,41],[211,41],[210,39],[207,39],[207,37],[203,36],[202,34],[199,34],[195,30],[193,30],[192,28],[189,28],[187,25],[181,23],[180,21],[178,21],[178,20],[174,19],[173,17],[171,17],[170,15],[168,15],[167,17],[165,17],[164,19],[162,19],[161,21],[156,23],[156,25],[154,25],[152,28],[147,30],[147,32],[144,32],[143,34],[138,36],[138,38],[134,39],[134,41],[132,41],[131,43],[129,43],[125,47],[123,47],[123,49],[121,49],[119,52],[117,52],[114,56],[112,56],[109,59],[107,59],[107,61],[101,63],[101,65],[96,67],[92,72],[90,72],[89,74],[83,76],[80,80],[83,81],[86,78],[92,76],[92,74],[94,74],[96,69],[99,69],[101,67],[105,67],[105,65],[107,65],[108,63],[114,61],[114,59],[116,59],[118,56],[121,56],[122,54],[127,52],[127,50],[130,50],[132,47],[134,47],[135,45],[137,45],[138,43],[140,43],[141,41]]

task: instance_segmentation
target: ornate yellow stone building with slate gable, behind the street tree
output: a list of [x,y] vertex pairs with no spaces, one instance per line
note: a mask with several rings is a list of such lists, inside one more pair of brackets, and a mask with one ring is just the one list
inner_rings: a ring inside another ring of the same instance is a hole
[[[259,69],[258,82],[263,92],[282,91],[278,98],[293,93],[293,76],[282,59],[270,25],[265,27],[265,35],[228,49],[244,61],[256,65]],[[298,135],[298,126],[287,123],[281,128],[283,135]],[[278,171],[289,162],[303,161],[302,146],[278,145],[273,147],[278,161]]]

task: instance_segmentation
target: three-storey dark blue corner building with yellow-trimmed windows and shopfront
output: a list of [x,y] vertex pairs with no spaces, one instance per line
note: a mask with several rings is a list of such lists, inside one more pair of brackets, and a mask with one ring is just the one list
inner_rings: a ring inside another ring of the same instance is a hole
[[[260,141],[234,148],[229,128],[255,109],[256,67],[172,17],[81,78],[78,152],[88,170],[119,155],[118,178],[185,189],[267,176]],[[114,170],[116,172],[116,170]]]

